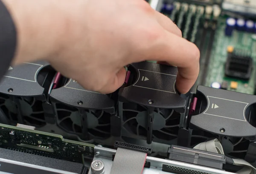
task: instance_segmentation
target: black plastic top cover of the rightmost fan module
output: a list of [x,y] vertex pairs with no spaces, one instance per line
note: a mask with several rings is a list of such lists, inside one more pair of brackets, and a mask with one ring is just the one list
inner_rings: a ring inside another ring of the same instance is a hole
[[256,96],[198,86],[195,114],[190,123],[221,136],[254,137],[256,128],[247,121]]

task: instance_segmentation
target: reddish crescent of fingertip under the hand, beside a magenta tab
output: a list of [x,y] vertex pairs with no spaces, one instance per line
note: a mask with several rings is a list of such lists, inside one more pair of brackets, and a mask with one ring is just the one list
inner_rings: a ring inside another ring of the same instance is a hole
[[104,88],[102,88],[102,90],[99,92],[105,93],[105,94],[113,93],[124,84],[125,77],[126,77],[126,70],[124,67],[122,67],[121,70],[119,70],[119,72],[116,73],[116,75],[113,76],[113,78],[109,81],[109,83]]

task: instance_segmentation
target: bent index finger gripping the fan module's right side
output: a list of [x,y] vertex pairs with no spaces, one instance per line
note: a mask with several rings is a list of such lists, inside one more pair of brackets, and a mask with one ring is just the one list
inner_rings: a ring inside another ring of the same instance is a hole
[[199,73],[200,52],[195,44],[184,38],[164,32],[152,44],[147,60],[165,61],[178,67],[176,87],[180,93],[187,93],[195,83]]

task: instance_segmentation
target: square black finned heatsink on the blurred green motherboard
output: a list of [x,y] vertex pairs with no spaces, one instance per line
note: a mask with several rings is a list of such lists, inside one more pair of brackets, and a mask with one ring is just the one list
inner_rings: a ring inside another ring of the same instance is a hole
[[235,49],[228,54],[225,75],[235,78],[249,80],[253,67],[253,59],[250,52]]

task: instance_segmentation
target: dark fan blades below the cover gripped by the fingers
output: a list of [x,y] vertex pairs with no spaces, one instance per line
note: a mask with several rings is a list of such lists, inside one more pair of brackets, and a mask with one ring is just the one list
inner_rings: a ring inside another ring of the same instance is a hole
[[[120,108],[122,106],[122,108]],[[148,108],[131,102],[119,102],[119,116],[123,130],[129,137],[147,138]],[[152,136],[154,142],[171,143],[177,138],[180,126],[180,113],[172,109],[154,109]]]

